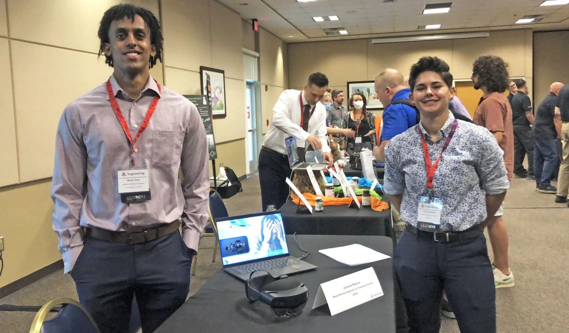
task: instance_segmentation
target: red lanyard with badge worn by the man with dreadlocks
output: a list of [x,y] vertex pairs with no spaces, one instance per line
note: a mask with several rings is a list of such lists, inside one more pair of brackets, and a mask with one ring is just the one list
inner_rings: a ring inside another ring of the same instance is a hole
[[[158,86],[158,91],[162,92],[160,85],[156,82]],[[113,107],[114,114],[117,116],[118,122],[121,124],[122,130],[125,132],[126,138],[129,139],[131,152],[130,152],[130,165],[135,167],[134,163],[134,153],[138,152],[138,148],[135,148],[135,143],[137,143],[139,136],[142,132],[146,130],[150,122],[154,110],[156,110],[156,105],[158,104],[159,97],[155,96],[150,102],[150,106],[146,111],[146,115],[142,120],[142,124],[138,129],[137,135],[134,137],[130,135],[129,126],[126,123],[125,117],[121,113],[121,108],[118,106],[117,99],[114,98],[113,86],[110,83],[110,79],[106,83],[107,95],[109,96],[110,105]],[[118,170],[118,193],[121,194],[122,203],[132,203],[132,202],[142,202],[151,199],[150,194],[150,178],[148,169],[136,169],[131,168],[128,170]]]

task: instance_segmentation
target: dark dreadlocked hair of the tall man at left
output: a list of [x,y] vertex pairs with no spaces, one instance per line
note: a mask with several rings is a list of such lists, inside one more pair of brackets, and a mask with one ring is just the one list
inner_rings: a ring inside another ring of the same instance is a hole
[[[156,16],[152,14],[150,10],[145,8],[130,5],[128,3],[121,3],[121,5],[116,5],[110,7],[108,10],[105,11],[103,14],[103,18],[101,19],[101,23],[99,24],[99,31],[97,35],[101,40],[101,45],[99,46],[99,53],[98,56],[101,56],[105,52],[103,48],[105,47],[105,43],[110,43],[109,40],[109,29],[110,24],[116,20],[122,20],[123,18],[129,18],[134,22],[134,15],[141,16],[144,20],[146,25],[149,27],[150,30],[150,44],[154,45],[156,48],[156,55],[154,57],[150,56],[149,61],[149,68],[156,65],[156,60],[162,61],[162,49],[163,49],[163,41],[164,38],[162,37],[162,30],[160,30],[160,23],[156,19]],[[105,64],[113,67],[113,56],[105,55]]]

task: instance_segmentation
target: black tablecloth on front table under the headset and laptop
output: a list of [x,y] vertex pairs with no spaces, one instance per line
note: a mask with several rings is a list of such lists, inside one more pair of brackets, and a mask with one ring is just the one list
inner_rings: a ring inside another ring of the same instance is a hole
[[[296,239],[304,249],[311,251],[304,260],[318,266],[316,270],[296,276],[308,287],[310,294],[301,314],[290,318],[274,317],[269,306],[259,301],[248,301],[244,282],[219,270],[155,333],[395,332],[393,260],[347,266],[318,252],[319,249],[357,243],[393,257],[391,239],[381,236],[320,235],[296,235]],[[303,255],[291,235],[287,235],[287,242],[292,256]],[[334,316],[330,315],[327,305],[312,310],[320,284],[368,267],[376,271],[383,296]]]

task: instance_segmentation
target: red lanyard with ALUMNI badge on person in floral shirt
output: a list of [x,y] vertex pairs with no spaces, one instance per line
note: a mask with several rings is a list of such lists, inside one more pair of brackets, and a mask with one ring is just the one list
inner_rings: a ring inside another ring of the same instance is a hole
[[431,157],[428,154],[427,142],[423,138],[420,127],[417,126],[417,131],[421,137],[423,144],[423,155],[425,158],[425,168],[427,170],[427,189],[429,192],[428,197],[419,197],[419,207],[417,209],[417,228],[419,230],[440,232],[440,213],[443,211],[443,201],[440,198],[435,198],[433,195],[433,178],[435,177],[436,167],[439,165],[440,157],[443,156],[444,151],[447,150],[448,144],[451,142],[452,136],[455,135],[457,120],[452,122],[451,131],[448,133],[447,139],[444,141],[443,149],[440,151],[439,157],[435,163],[431,165]]

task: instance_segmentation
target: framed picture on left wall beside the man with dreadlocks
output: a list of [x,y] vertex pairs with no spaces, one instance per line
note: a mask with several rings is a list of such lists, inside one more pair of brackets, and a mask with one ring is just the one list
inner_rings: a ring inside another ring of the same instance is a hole
[[225,71],[200,66],[201,93],[208,96],[213,119],[225,118]]

